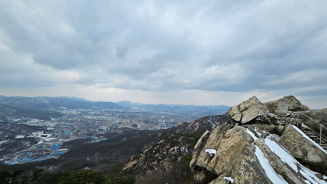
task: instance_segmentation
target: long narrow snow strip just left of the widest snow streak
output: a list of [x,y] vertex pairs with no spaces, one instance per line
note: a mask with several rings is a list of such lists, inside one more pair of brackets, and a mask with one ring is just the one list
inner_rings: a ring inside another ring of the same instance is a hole
[[259,149],[257,145],[255,145],[255,152],[254,154],[257,156],[260,165],[265,170],[265,173],[267,177],[270,179],[270,181],[273,184],[288,184],[284,178],[277,174],[275,170],[270,166],[268,160],[265,158],[265,155],[262,153],[262,151]]

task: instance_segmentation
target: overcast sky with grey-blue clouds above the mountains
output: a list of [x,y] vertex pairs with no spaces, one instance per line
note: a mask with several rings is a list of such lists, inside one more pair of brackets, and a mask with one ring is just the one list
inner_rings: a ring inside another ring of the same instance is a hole
[[327,1],[0,0],[0,94],[327,107]]

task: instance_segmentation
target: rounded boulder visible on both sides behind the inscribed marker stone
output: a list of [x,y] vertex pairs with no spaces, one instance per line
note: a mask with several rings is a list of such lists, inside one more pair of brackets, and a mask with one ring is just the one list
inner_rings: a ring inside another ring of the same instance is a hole
[[[288,100],[288,110],[289,111],[305,111],[310,110],[310,108],[306,105],[302,105],[301,102],[296,99],[294,96],[284,96],[283,98],[286,98]],[[275,113],[275,110],[279,110],[277,107],[277,100],[275,101],[269,101],[263,103],[266,108],[269,110],[270,113]]]

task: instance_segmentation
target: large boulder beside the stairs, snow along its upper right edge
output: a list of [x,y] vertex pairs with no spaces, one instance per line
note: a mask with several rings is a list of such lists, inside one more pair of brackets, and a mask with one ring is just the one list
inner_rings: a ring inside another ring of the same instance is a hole
[[293,157],[313,166],[327,168],[327,152],[304,137],[295,125],[286,126],[279,142]]

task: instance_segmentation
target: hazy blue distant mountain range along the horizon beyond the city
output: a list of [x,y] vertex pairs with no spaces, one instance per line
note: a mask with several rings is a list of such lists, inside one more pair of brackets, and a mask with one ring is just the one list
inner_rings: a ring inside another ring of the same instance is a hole
[[178,104],[142,104],[131,101],[101,102],[91,101],[76,96],[37,96],[37,97],[24,97],[24,96],[2,96],[0,95],[0,104],[7,105],[15,108],[23,109],[153,109],[153,110],[191,110],[191,111],[208,111],[217,112],[217,114],[224,113],[228,110],[229,106],[197,106],[197,105],[178,105]]

